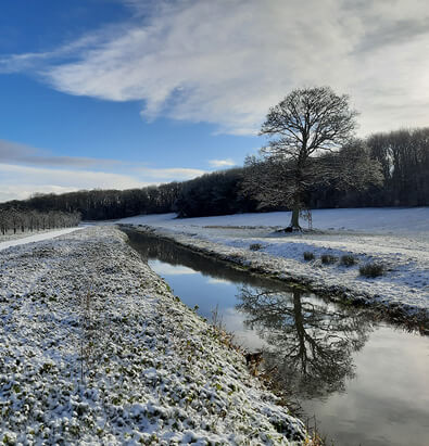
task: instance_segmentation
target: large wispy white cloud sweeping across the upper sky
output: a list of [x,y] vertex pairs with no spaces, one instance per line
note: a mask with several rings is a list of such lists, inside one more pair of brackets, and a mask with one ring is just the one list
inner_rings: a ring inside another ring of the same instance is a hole
[[147,119],[203,120],[239,135],[303,85],[350,93],[363,133],[428,124],[422,0],[125,3],[129,23],[51,53],[2,58],[0,71],[31,69],[71,94],[141,100]]

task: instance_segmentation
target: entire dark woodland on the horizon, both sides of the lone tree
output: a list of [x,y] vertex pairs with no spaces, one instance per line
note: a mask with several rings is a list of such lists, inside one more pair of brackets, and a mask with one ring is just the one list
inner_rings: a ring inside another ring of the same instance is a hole
[[[311,208],[429,205],[429,128],[375,133],[365,151],[382,167],[383,183],[366,191],[344,190],[336,181],[315,182]],[[242,190],[245,168],[206,174],[193,180],[142,189],[91,190],[36,194],[0,204],[1,209],[79,213],[84,220],[176,212],[179,217],[213,216],[279,209],[258,203]],[[18,227],[18,226],[17,226]]]

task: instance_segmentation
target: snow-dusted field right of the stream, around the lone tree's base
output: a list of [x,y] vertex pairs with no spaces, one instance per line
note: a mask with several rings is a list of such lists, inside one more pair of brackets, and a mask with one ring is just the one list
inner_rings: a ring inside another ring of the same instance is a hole
[[[428,316],[429,309],[429,207],[318,209],[313,212],[312,232],[276,233],[287,226],[289,213],[241,214],[175,219],[174,214],[119,220],[148,225],[156,232],[192,249],[231,259],[254,270],[295,279],[315,291],[344,293],[383,308]],[[252,244],[262,247],[254,252]],[[304,252],[315,259],[305,262]],[[339,259],[353,255],[357,264],[324,265],[323,254]],[[379,263],[382,277],[366,279],[359,267]]]

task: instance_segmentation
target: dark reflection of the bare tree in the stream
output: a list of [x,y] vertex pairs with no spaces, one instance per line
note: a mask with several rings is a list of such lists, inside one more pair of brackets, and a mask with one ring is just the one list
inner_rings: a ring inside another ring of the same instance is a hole
[[299,290],[243,286],[237,297],[245,326],[269,345],[265,368],[282,388],[306,398],[344,390],[345,379],[354,377],[352,353],[365,345],[371,330],[365,316]]

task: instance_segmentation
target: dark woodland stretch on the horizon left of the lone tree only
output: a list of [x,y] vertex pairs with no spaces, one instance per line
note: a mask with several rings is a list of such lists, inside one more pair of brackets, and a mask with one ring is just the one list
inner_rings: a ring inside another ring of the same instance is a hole
[[142,189],[91,190],[63,194],[37,193],[28,200],[0,204],[0,208],[78,212],[84,220],[104,220],[139,214],[176,212],[179,217],[257,211],[257,202],[240,191],[242,168],[206,174],[193,180]]

